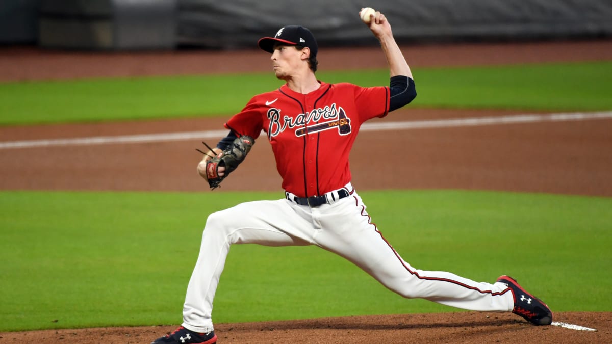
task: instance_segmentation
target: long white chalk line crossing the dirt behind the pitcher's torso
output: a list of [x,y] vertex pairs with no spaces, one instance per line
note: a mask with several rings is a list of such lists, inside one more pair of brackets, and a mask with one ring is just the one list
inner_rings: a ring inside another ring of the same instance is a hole
[[[407,130],[444,127],[472,127],[476,125],[498,125],[535,122],[584,121],[588,119],[610,119],[612,111],[589,113],[515,114],[511,116],[433,119],[430,121],[402,121],[365,123],[362,131]],[[24,140],[0,142],[0,149],[36,148],[50,146],[82,146],[86,144],[152,143],[161,141],[203,140],[222,138],[228,130],[206,130],[201,132],[156,133],[123,136],[94,136],[84,138],[58,138],[48,140]]]

